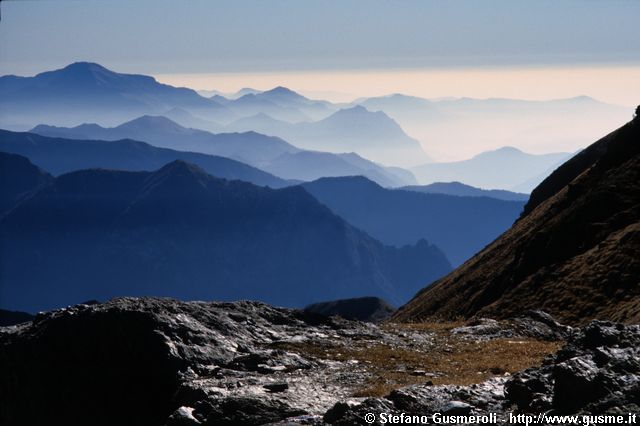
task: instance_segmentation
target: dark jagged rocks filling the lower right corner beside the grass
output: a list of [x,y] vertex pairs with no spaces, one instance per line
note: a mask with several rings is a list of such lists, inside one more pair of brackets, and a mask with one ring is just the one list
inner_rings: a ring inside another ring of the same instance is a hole
[[[551,416],[622,415],[640,410],[640,326],[594,321],[570,334],[567,345],[541,367],[471,386],[412,386],[358,404],[338,403],[324,416],[335,425],[366,425],[380,413],[432,417],[532,416],[530,423],[553,424]],[[545,417],[546,416],[546,417]],[[524,420],[522,420],[524,422]],[[415,423],[415,422],[414,422]],[[466,424],[463,421],[455,422]],[[476,422],[472,422],[476,423]],[[496,422],[494,422],[496,423]]]

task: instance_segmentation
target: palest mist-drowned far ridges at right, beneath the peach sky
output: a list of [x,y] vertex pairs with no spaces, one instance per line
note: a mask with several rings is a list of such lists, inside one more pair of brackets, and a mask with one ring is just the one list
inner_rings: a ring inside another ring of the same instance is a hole
[[525,151],[574,152],[584,147],[584,141],[605,135],[629,119],[627,107],[588,96],[532,101],[394,94],[359,99],[353,105],[384,111],[431,156],[449,162],[477,153],[479,146],[482,151],[516,145]]

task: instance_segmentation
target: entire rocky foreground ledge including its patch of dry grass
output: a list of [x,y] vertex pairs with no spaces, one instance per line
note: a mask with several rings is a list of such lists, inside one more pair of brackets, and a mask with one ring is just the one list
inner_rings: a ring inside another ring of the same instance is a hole
[[[459,348],[498,354],[557,339],[566,344],[542,366],[495,365],[477,371],[480,383],[440,384],[472,382],[446,376],[470,362],[455,365]],[[415,369],[438,357],[437,368]],[[392,359],[389,377],[415,384],[366,397]],[[443,334],[256,302],[125,298],[0,328],[2,425],[351,425],[369,424],[368,413],[627,415],[639,405],[639,326],[572,329],[540,312]]]

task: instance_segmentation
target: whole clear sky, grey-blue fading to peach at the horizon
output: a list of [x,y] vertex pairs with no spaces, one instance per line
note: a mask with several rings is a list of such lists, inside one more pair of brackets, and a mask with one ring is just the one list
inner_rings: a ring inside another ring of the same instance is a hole
[[[286,80],[354,96],[415,88],[588,94],[627,105],[640,94],[635,0],[9,0],[1,8],[0,74],[86,60],[197,89]],[[427,87],[427,78],[438,84]]]

